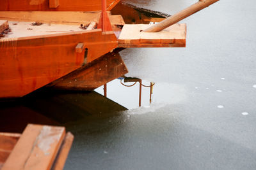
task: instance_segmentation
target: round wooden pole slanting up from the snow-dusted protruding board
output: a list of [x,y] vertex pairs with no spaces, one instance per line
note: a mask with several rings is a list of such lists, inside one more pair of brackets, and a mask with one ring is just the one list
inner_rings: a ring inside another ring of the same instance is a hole
[[175,15],[172,15],[171,17],[166,18],[165,20],[159,22],[159,24],[153,25],[152,27],[145,29],[143,32],[162,31],[163,29],[166,29],[167,27],[176,24],[180,20],[183,20],[184,18],[189,17],[190,15],[193,15],[200,10],[203,10],[211,4],[216,3],[217,1],[220,0],[199,0],[199,2],[189,6],[188,8],[180,11],[179,13],[176,13]]

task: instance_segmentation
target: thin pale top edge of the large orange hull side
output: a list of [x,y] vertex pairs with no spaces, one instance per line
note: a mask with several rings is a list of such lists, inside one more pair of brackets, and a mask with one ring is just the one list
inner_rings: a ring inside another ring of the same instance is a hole
[[36,39],[36,38],[50,38],[50,37],[56,37],[56,36],[69,36],[74,34],[84,34],[88,32],[101,32],[102,29],[93,29],[93,30],[84,30],[84,31],[73,31],[73,32],[67,32],[67,33],[57,33],[57,34],[47,34],[47,35],[41,35],[41,36],[28,36],[28,37],[20,37],[20,38],[5,38],[0,39],[1,42],[6,42],[8,40],[13,41],[19,41],[19,40],[28,40],[28,39]]

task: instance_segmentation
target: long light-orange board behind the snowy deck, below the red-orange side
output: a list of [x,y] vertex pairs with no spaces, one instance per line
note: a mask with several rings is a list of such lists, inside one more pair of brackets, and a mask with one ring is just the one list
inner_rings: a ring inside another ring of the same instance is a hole
[[[0,20],[80,25],[99,22],[100,11],[0,11]],[[109,15],[112,25],[124,25],[120,15]]]

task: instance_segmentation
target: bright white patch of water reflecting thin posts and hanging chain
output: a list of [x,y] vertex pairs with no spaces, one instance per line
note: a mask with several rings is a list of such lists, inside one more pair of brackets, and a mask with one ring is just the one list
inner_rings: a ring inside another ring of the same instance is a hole
[[[138,108],[138,106],[159,108],[166,104],[178,104],[186,101],[188,96],[185,85],[161,82],[155,84],[139,78],[126,78],[126,80],[118,78],[110,81],[107,86],[107,97],[129,110]],[[103,95],[104,87],[99,87],[95,91]]]

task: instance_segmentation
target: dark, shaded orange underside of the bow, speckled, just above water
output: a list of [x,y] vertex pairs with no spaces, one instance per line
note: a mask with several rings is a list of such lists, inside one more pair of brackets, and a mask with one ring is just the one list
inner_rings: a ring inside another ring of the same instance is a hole
[[128,73],[118,50],[86,64],[49,86],[64,90],[94,90]]

